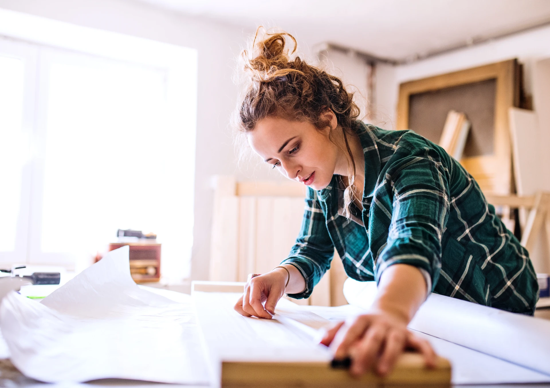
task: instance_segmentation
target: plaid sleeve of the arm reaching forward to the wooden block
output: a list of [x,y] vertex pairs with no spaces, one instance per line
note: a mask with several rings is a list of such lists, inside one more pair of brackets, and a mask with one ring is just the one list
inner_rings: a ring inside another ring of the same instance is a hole
[[[391,265],[410,264],[430,275],[433,290],[449,214],[449,171],[433,150],[396,159],[375,193],[376,206],[386,211],[392,208],[388,239],[375,262],[375,279],[378,282]],[[389,205],[389,198],[391,205],[384,207],[384,199]]]

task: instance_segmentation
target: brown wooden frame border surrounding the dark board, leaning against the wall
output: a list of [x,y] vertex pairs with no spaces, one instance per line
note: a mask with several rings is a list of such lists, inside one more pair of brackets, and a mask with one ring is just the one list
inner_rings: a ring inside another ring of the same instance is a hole
[[397,129],[408,129],[411,95],[491,79],[496,79],[493,154],[463,158],[460,163],[474,176],[483,192],[507,195],[514,192],[508,108],[519,105],[519,66],[516,59],[404,82],[399,87]]

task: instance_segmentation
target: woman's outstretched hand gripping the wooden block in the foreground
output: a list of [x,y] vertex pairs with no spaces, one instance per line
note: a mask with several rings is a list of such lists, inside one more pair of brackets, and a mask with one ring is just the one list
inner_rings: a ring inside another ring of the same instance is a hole
[[355,376],[371,369],[382,376],[388,374],[407,348],[422,353],[428,368],[436,365],[436,353],[430,343],[412,334],[406,319],[384,311],[339,323],[321,343],[332,348],[334,359],[350,357],[350,373]]

